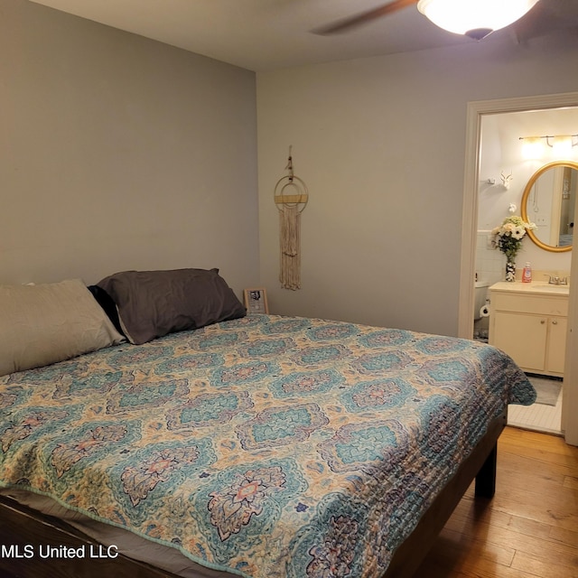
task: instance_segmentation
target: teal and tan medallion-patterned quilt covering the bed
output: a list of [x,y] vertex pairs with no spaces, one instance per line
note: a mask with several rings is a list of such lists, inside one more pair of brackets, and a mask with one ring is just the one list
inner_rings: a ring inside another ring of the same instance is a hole
[[249,315],[0,378],[0,486],[229,573],[377,577],[535,395],[472,340]]

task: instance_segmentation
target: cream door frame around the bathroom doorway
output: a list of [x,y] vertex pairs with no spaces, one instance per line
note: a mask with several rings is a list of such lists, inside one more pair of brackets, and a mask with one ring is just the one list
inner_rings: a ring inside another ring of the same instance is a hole
[[[578,92],[534,97],[477,100],[468,103],[466,118],[463,205],[461,213],[461,266],[458,335],[471,339],[476,269],[476,233],[478,224],[478,184],[480,182],[481,118],[484,115],[578,107]],[[578,203],[576,215],[578,216]],[[574,219],[575,220],[575,219]],[[572,269],[578,271],[578,250],[573,250]],[[564,368],[562,429],[567,443],[578,445],[578,292],[570,283],[566,362]],[[573,359],[576,358],[576,359]]]

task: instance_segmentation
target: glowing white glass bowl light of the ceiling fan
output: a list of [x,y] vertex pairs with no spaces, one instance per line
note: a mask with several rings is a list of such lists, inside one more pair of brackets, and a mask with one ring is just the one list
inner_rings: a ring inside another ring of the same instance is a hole
[[514,23],[538,0],[419,0],[417,9],[451,33],[481,40]]

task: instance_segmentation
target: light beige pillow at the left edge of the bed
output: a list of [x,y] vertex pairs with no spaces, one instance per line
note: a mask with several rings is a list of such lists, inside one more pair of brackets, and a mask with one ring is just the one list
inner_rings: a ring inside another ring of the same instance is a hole
[[79,279],[0,285],[0,376],[123,340]]

